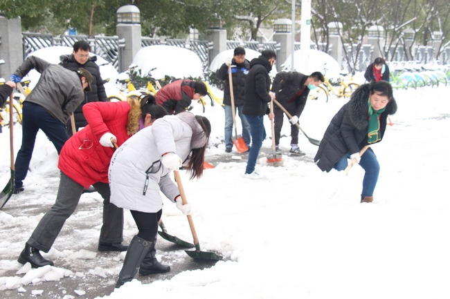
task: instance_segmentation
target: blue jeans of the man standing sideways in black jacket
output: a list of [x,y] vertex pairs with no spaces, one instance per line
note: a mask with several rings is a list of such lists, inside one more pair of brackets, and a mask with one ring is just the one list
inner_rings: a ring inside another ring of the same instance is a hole
[[247,160],[245,173],[253,173],[253,171],[255,171],[256,160],[258,160],[258,155],[260,155],[262,141],[266,139],[264,115],[245,115],[245,117],[247,118],[247,122],[250,124],[251,133],[251,148],[249,151],[249,160]]

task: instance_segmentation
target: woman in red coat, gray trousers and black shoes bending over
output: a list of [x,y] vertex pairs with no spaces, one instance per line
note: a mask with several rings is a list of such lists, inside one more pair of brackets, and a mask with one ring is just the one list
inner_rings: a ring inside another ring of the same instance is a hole
[[39,251],[48,252],[62,226],[73,211],[84,188],[93,186],[103,197],[103,226],[98,250],[126,251],[123,245],[123,209],[109,203],[108,168],[118,146],[141,128],[151,126],[167,113],[152,95],[139,103],[129,97],[127,102],[91,102],[83,106],[88,125],[66,141],[60,153],[60,187],[56,202],[41,219],[25,244],[18,262],[30,262],[33,268],[53,265]]

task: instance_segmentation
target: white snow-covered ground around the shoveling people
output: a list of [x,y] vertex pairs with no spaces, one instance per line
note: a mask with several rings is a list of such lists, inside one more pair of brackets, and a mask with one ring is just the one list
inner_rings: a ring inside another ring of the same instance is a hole
[[[383,142],[372,146],[381,164],[372,204],[359,203],[362,169],[354,166],[348,175],[322,173],[312,162],[317,147],[303,135],[300,148],[307,155],[284,155],[284,164],[277,167],[267,165],[262,157],[256,168],[261,180],[244,177],[246,164],[239,160],[217,164],[200,180],[190,181],[181,171],[188,201],[195,209],[192,218],[201,249],[215,251],[224,260],[209,269],[183,271],[152,284],[134,280],[98,298],[449,298],[450,159],[445,141],[450,139],[449,93],[450,86],[395,91],[399,108],[390,117],[393,126],[388,126]],[[309,137],[321,139],[344,103],[337,98],[328,103],[309,101],[300,126]],[[201,106],[195,104],[193,112],[201,114]],[[225,155],[221,142],[224,112],[208,105],[204,115],[213,126],[208,161]],[[268,118],[265,126],[270,135]],[[19,125],[14,133],[17,154]],[[286,136],[280,146],[286,152],[290,142],[287,119],[282,134]],[[0,144],[3,188],[10,166],[6,128]],[[270,146],[267,138],[263,148]],[[232,155],[239,154],[233,151]],[[97,202],[98,209],[75,211],[53,249],[44,254],[55,261],[55,267],[30,270],[16,261],[43,208],[55,200],[56,165],[55,148],[39,132],[24,181],[26,191],[13,195],[7,204],[34,205],[37,212],[11,215],[0,211],[0,224],[8,227],[0,230],[0,275],[17,270],[14,276],[0,277],[0,290],[21,291],[21,286],[33,285],[38,291],[42,283],[49,283],[43,280],[82,279],[73,272],[81,264],[92,264],[91,275],[110,278],[111,284],[116,281],[125,254],[111,253],[112,266],[102,267],[95,250],[101,216],[95,219],[93,215],[101,215],[102,207],[97,193],[83,195],[81,202]],[[80,219],[85,219],[84,225],[77,226],[75,220]],[[168,200],[163,220],[170,234],[192,240],[186,217]],[[135,233],[126,211],[125,242]],[[84,244],[93,250],[83,249]]]

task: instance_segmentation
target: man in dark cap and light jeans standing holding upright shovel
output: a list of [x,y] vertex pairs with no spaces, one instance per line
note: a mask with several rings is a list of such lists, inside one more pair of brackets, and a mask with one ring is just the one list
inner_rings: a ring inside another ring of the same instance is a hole
[[225,151],[231,153],[233,148],[233,110],[231,108],[231,93],[230,93],[230,80],[228,77],[228,66],[231,65],[231,77],[233,81],[233,99],[235,112],[238,111],[238,115],[242,123],[242,138],[247,146],[250,146],[250,124],[242,114],[242,108],[244,107],[244,86],[245,79],[249,73],[250,63],[245,59],[245,49],[241,47],[235,48],[233,59],[229,58],[229,61],[225,61],[224,64],[217,70],[217,79],[225,82],[224,88],[224,110],[225,110]]

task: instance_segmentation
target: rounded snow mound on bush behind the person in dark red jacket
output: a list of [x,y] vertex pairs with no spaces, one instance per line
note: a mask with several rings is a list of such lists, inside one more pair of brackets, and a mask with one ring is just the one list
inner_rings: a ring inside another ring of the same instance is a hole
[[133,65],[141,70],[141,75],[149,72],[155,79],[165,75],[175,78],[202,77],[203,66],[195,52],[175,46],[147,46],[138,50]]

